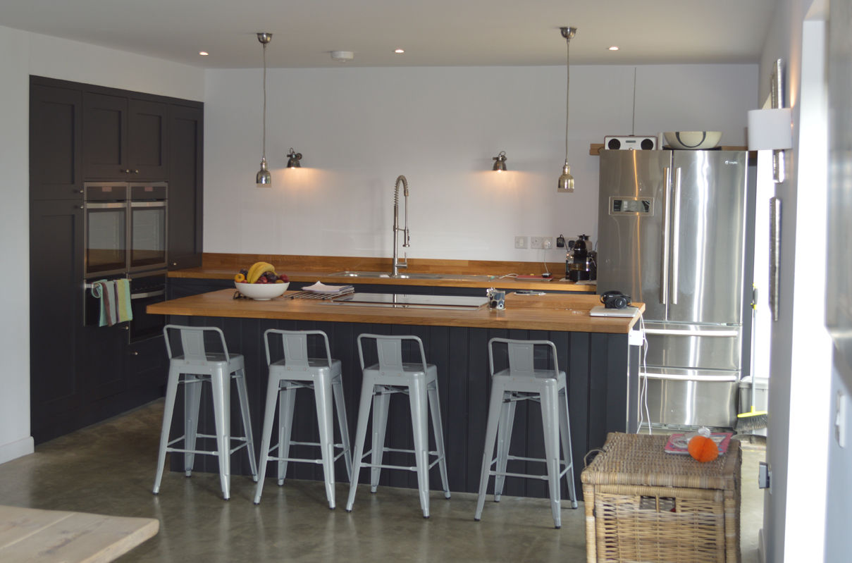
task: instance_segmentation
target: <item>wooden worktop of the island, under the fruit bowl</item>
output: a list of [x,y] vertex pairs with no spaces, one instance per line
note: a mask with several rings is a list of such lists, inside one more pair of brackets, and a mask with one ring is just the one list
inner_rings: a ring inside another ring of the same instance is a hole
[[[380,325],[462,326],[473,328],[561,330],[626,334],[638,315],[633,317],[591,317],[591,307],[600,305],[598,296],[584,294],[546,294],[521,296],[506,294],[506,308],[474,310],[370,307],[340,305],[315,300],[290,299],[296,293],[269,301],[233,299],[235,290],[218,290],[198,296],[181,297],[148,305],[147,312],[200,317],[237,319],[295,319]],[[633,303],[640,312],[643,303]]]

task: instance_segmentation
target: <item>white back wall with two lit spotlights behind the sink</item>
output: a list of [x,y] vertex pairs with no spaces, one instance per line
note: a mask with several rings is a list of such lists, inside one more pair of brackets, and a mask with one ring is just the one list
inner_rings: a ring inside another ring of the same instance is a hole
[[[564,66],[272,69],[267,160],[262,72],[207,72],[204,250],[390,256],[394,180],[410,187],[409,256],[538,261],[515,235],[596,239],[598,157],[629,135],[633,66],[572,66],[573,194],[556,193],[565,147]],[[639,66],[636,134],[722,131],[745,145],[756,65]],[[284,169],[290,147],[307,169]],[[491,171],[508,156],[508,174]],[[564,259],[559,251],[547,259]]]

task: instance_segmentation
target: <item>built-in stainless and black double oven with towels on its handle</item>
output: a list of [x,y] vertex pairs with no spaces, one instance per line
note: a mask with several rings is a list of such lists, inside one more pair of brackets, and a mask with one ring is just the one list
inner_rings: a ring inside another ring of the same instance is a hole
[[161,333],[164,316],[148,315],[145,307],[165,299],[168,192],[164,181],[97,181],[83,186],[86,325],[97,325],[100,317],[91,284],[127,278],[133,312],[127,325],[130,342]]

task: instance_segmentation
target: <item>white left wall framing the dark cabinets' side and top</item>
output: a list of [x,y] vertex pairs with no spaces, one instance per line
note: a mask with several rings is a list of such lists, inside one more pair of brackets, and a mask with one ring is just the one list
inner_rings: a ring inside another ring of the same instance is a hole
[[0,462],[32,452],[29,353],[29,75],[204,99],[204,71],[0,26]]

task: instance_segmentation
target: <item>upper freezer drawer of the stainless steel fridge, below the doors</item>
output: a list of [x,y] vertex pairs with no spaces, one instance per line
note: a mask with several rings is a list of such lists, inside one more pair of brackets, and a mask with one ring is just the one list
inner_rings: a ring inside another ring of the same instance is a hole
[[742,327],[647,323],[648,365],[742,369]]

